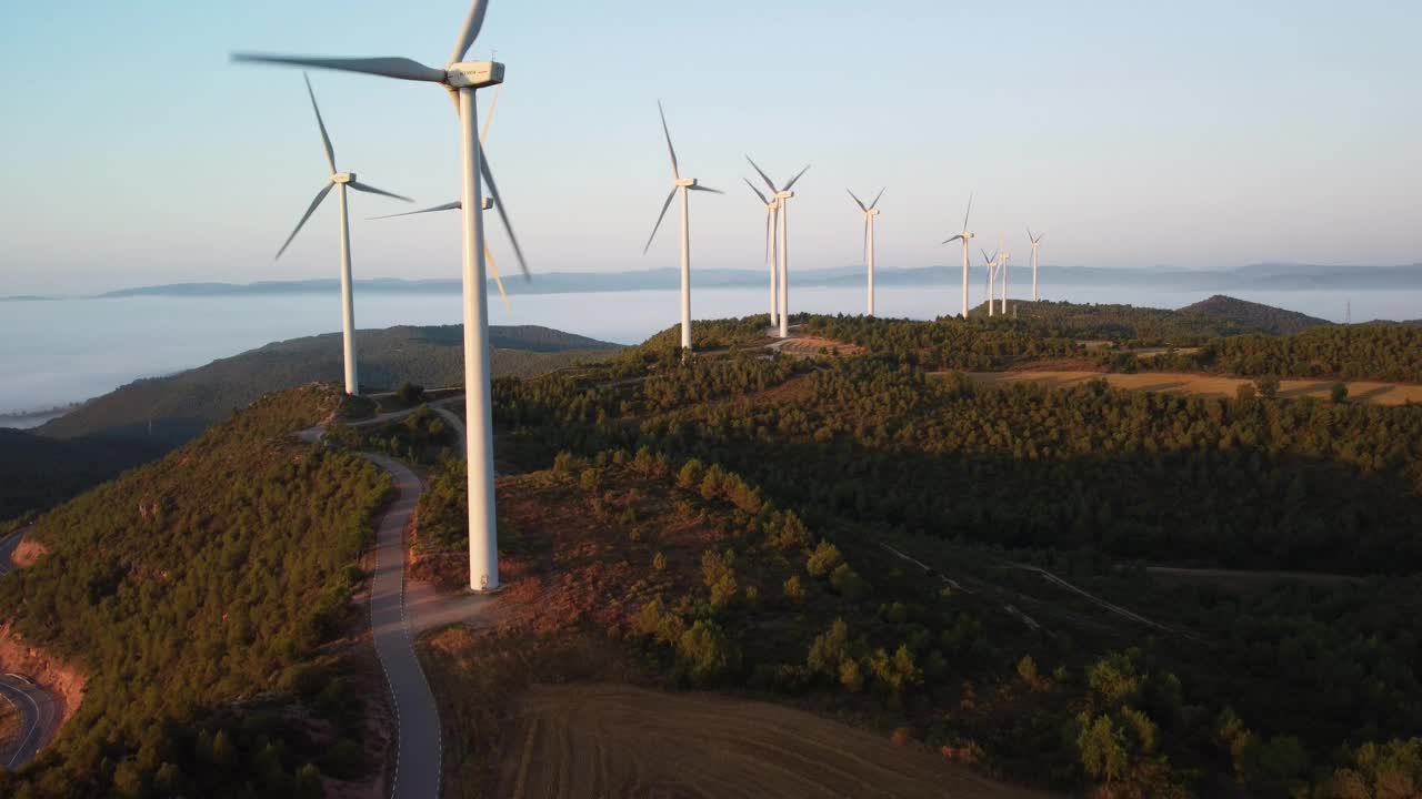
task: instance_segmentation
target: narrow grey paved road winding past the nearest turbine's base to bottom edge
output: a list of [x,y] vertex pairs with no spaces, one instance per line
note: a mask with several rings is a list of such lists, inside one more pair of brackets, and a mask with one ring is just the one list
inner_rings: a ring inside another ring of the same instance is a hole
[[439,709],[415,657],[414,634],[405,617],[404,533],[419,499],[419,478],[391,458],[363,456],[390,472],[397,490],[395,502],[385,509],[375,527],[375,574],[370,591],[370,627],[395,701],[400,728],[390,795],[395,799],[435,799],[439,796],[444,755]]

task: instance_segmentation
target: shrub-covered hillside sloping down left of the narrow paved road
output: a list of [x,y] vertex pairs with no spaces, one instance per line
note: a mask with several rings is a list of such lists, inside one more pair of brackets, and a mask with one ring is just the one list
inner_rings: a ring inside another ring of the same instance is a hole
[[[333,385],[253,404],[46,513],[0,621],[87,677],[58,739],[0,796],[320,796],[370,768],[353,591],[388,478],[297,442]],[[11,633],[13,634],[13,633]]]

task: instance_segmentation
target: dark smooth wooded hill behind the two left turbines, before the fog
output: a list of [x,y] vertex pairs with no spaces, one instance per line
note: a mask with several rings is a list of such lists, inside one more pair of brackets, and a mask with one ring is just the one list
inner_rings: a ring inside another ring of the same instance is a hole
[[[606,357],[617,348],[535,326],[495,326],[489,334],[496,377],[545,374],[579,360]],[[361,330],[356,334],[356,348],[365,391],[391,390],[404,381],[425,387],[464,382],[462,326]],[[293,338],[195,370],[134,381],[37,432],[58,438],[127,432],[179,444],[263,394],[311,381],[338,381],[341,375],[340,334]]]

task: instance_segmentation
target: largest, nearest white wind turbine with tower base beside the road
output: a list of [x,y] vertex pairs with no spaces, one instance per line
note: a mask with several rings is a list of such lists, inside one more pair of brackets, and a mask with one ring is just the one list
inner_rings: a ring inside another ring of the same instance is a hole
[[444,68],[427,67],[410,58],[321,58],[309,55],[235,54],[235,61],[292,64],[321,70],[363,73],[402,81],[421,81],[444,87],[456,101],[459,111],[459,169],[464,191],[459,203],[464,210],[464,385],[465,436],[469,471],[469,587],[495,590],[499,587],[499,546],[493,512],[493,397],[489,380],[489,304],[483,277],[483,195],[481,176],[489,183],[495,210],[509,232],[513,253],[523,274],[528,264],[509,226],[506,203],[499,196],[489,161],[479,146],[475,91],[503,82],[503,64],[496,61],[464,61],[474,45],[486,0],[474,0],[464,27],[455,38],[454,54]]

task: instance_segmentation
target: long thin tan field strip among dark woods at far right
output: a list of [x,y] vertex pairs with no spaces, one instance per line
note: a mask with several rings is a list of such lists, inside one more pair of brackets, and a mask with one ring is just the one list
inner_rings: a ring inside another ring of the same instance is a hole
[[[983,385],[1003,385],[1014,381],[1032,381],[1048,388],[1066,388],[1082,382],[1105,378],[1116,388],[1130,391],[1179,391],[1185,394],[1199,394],[1203,397],[1234,397],[1240,385],[1251,382],[1241,377],[1224,377],[1214,374],[1190,372],[1098,372],[1098,371],[1035,371],[1011,370],[991,372],[967,372],[974,382]],[[1278,385],[1278,395],[1284,400],[1300,397],[1317,397],[1328,400],[1328,392],[1335,381],[1331,380],[1283,380]],[[1348,381],[1349,402],[1369,402],[1376,405],[1402,405],[1405,402],[1422,402],[1422,385],[1404,382],[1374,382],[1367,380]]]

